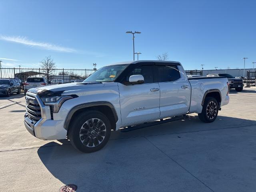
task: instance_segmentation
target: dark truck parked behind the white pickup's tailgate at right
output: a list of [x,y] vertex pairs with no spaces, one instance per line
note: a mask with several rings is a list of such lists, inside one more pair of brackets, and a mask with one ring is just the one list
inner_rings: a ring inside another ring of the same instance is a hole
[[208,74],[207,77],[226,77],[228,78],[229,82],[229,88],[230,89],[236,89],[236,91],[242,91],[244,87],[244,81],[239,78],[235,78],[230,74],[227,73],[213,73],[213,74]]

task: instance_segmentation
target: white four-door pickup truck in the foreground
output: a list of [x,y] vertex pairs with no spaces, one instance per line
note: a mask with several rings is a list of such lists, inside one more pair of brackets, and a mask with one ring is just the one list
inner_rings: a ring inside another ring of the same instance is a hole
[[190,113],[213,122],[229,102],[228,86],[225,77],[188,78],[179,62],[123,62],[81,83],[28,90],[24,124],[37,138],[68,138],[76,149],[94,152],[106,145],[111,130]]

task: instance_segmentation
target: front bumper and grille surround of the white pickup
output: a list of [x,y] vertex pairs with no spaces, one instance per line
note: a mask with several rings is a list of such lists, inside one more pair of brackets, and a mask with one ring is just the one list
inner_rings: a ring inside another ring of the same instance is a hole
[[24,115],[24,125],[28,132],[33,136],[42,140],[57,140],[65,139],[67,135],[67,130],[64,129],[64,119],[67,114],[67,110],[60,108],[58,114],[55,114],[56,120],[51,120],[50,116],[50,106],[44,106],[40,98],[36,94],[30,92],[27,93],[28,96],[33,96],[38,101],[42,118],[37,122],[31,120],[26,113]]

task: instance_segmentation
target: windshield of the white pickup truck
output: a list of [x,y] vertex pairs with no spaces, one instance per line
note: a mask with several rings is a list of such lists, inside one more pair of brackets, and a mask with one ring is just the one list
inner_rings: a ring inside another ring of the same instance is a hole
[[128,64],[120,64],[102,67],[83,82],[113,82],[127,66]]

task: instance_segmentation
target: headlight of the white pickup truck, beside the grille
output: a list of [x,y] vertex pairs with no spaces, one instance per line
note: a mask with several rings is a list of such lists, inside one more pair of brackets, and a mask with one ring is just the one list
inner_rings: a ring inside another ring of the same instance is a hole
[[76,98],[76,95],[65,95],[65,96],[55,96],[55,97],[41,97],[44,105],[53,106],[53,112],[58,113],[62,104],[69,99]]

